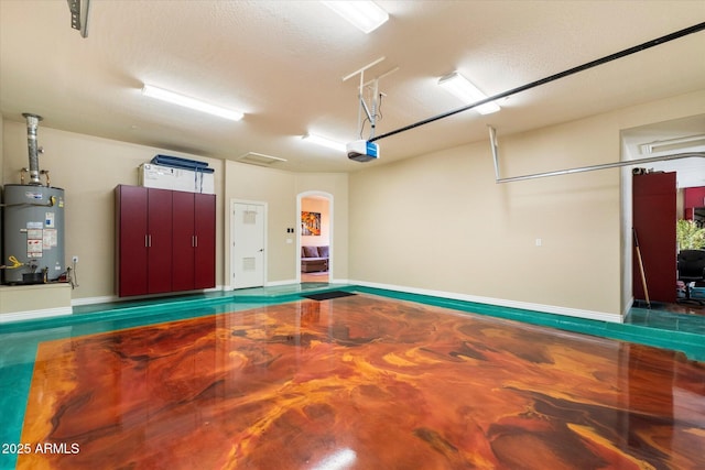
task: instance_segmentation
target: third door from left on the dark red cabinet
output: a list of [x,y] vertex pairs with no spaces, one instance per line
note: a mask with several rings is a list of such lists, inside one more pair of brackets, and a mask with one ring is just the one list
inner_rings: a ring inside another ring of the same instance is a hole
[[172,247],[172,288],[174,291],[192,291],[195,288],[196,245],[194,232],[194,194],[174,192]]

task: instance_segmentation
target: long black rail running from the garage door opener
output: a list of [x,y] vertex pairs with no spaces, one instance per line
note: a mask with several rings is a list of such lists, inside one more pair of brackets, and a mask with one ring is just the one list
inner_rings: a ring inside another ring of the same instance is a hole
[[680,37],[688,35],[688,34],[697,33],[697,32],[703,31],[703,30],[705,30],[705,23],[698,23],[698,24],[695,24],[693,26],[685,28],[685,29],[676,31],[674,33],[666,34],[665,36],[657,37],[655,40],[651,40],[651,41],[648,41],[646,43],[636,45],[633,47],[626,48],[626,50],[620,51],[618,53],[607,55],[605,57],[598,58],[596,61],[588,62],[588,63],[583,64],[583,65],[578,65],[577,67],[568,68],[567,70],[561,72],[558,74],[554,74],[554,75],[551,75],[549,77],[541,78],[539,80],[532,81],[530,84],[522,85],[522,86],[517,87],[517,88],[512,88],[512,89],[510,89],[508,91],[503,91],[503,92],[500,92],[498,95],[491,96],[489,98],[486,98],[486,99],[479,100],[477,102],[474,102],[471,105],[464,106],[463,108],[458,108],[458,109],[455,109],[453,111],[444,112],[442,114],[436,114],[434,117],[424,119],[424,120],[415,122],[413,124],[404,125],[403,128],[399,128],[397,130],[386,132],[383,134],[380,134],[380,135],[371,138],[370,142],[375,142],[375,141],[378,141],[380,139],[386,139],[386,138],[399,134],[401,132],[405,132],[405,131],[409,131],[411,129],[417,128],[420,125],[429,124],[431,122],[448,118],[448,117],[457,114],[459,112],[464,112],[464,111],[467,111],[469,109],[476,108],[476,107],[478,107],[480,105],[485,105],[487,102],[497,101],[498,99],[507,98],[508,96],[512,96],[512,95],[516,95],[518,92],[525,91],[525,90],[529,90],[531,88],[535,88],[535,87],[539,87],[541,85],[549,84],[551,81],[555,81],[555,80],[557,80],[560,78],[564,78],[564,77],[567,77],[570,75],[577,74],[578,72],[583,72],[583,70],[587,70],[588,68],[597,67],[598,65],[603,65],[603,64],[606,64],[608,62],[612,62],[612,61],[616,61],[618,58],[622,58],[622,57],[626,57],[628,55],[636,54],[638,52],[646,51],[646,50],[651,48],[651,47],[655,47],[658,45],[668,43],[670,41],[677,40]]

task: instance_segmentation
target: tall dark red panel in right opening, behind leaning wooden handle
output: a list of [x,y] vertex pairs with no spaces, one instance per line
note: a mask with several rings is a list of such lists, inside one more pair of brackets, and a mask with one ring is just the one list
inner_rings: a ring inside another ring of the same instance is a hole
[[[633,176],[633,228],[639,238],[649,299],[675,302],[675,173]],[[637,250],[633,253],[634,298],[646,299]]]

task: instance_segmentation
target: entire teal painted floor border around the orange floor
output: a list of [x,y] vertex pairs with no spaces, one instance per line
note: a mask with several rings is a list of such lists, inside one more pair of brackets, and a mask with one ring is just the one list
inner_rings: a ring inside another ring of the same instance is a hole
[[[66,326],[80,326],[90,323],[110,323],[127,320],[131,326],[147,326],[163,321],[174,321],[183,318],[196,318],[207,315],[227,314],[237,310],[257,308],[260,306],[282,304],[303,299],[305,294],[325,293],[329,291],[345,291],[350,293],[361,293],[378,295],[399,300],[415,302],[419,304],[444,307],[460,313],[486,315],[503,319],[516,320],[530,325],[544,326],[583,335],[604,337],[615,340],[647,345],[683,352],[688,359],[705,361],[705,335],[690,334],[687,331],[659,329],[651,326],[616,324],[609,321],[590,320],[577,317],[567,317],[545,311],[527,310],[512,307],[501,307],[490,304],[473,303],[468,300],[452,299],[424,294],[413,294],[402,291],[382,289],[359,285],[316,285],[302,288],[292,286],[290,292],[286,287],[274,288],[261,292],[258,291],[229,291],[214,292],[196,295],[184,295],[180,297],[151,298],[124,303],[110,303],[102,306],[77,307],[73,315],[56,316],[50,318],[20,320],[0,324],[0,336],[21,331],[47,330],[48,336],[57,335],[59,331],[50,331],[52,328]],[[205,307],[205,308],[204,308]],[[199,313],[196,314],[196,309]],[[155,314],[155,310],[160,310]],[[177,310],[177,315],[174,315]],[[176,317],[176,318],[175,318]],[[120,329],[120,328],[118,328]],[[72,331],[75,334],[76,331]],[[97,331],[82,331],[83,334],[95,334]],[[100,331],[105,332],[105,331]],[[37,340],[25,343],[24,348],[35,350]],[[20,364],[4,368],[1,376],[3,385],[13,391],[13,396],[26,396],[31,380],[33,364]],[[0,401],[2,403],[2,401]],[[13,441],[19,438],[19,433],[24,417],[24,407],[21,412],[8,413],[1,409],[8,423],[0,429],[0,438],[3,441]],[[0,468],[13,468],[17,456],[0,456]]]

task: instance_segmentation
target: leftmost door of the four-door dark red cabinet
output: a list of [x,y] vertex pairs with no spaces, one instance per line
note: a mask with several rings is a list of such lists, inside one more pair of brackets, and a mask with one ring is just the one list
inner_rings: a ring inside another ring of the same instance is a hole
[[119,296],[148,292],[147,188],[116,188],[116,283]]

